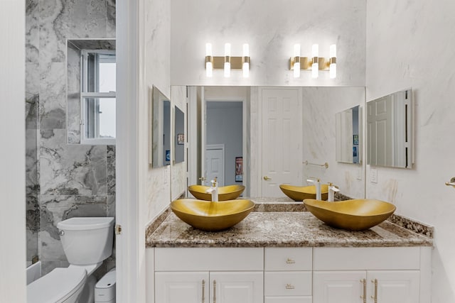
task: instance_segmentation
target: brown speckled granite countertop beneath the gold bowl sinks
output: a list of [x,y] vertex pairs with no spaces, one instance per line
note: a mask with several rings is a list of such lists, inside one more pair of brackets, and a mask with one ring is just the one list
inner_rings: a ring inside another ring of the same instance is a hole
[[[301,203],[300,203],[301,204]],[[258,206],[261,209],[261,206]],[[332,228],[308,211],[252,211],[225,231],[199,231],[171,211],[146,247],[392,247],[432,246],[432,238],[384,221],[366,231]]]

